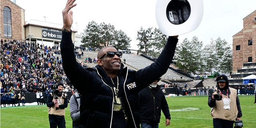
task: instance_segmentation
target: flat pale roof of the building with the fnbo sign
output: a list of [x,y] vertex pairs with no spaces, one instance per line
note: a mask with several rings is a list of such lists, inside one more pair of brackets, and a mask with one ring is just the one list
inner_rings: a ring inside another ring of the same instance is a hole
[[[45,28],[55,28],[55,29],[61,29],[63,27],[63,24],[56,24],[51,22],[45,22],[40,20],[30,20],[29,22],[26,22],[24,26],[31,25],[31,26],[41,26]],[[74,28],[71,28],[73,32],[77,32]]]

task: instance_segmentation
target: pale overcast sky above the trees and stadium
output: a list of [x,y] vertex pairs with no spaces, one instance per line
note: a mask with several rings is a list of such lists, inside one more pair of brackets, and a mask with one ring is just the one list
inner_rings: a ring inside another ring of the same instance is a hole
[[[114,25],[131,38],[131,49],[137,50],[137,31],[142,26],[158,28],[155,16],[156,0],[76,0],[73,10],[73,28],[83,32],[88,22]],[[25,10],[25,21],[42,20],[62,22],[66,0],[16,0]],[[208,44],[220,37],[232,44],[232,36],[243,28],[243,18],[256,10],[256,0],[204,0],[204,15],[199,27],[179,36],[191,40],[193,36]],[[77,24],[76,24],[77,23]]]

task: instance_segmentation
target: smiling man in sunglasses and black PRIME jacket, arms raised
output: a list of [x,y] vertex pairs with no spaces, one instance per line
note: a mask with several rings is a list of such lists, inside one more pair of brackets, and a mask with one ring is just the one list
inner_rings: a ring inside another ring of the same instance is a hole
[[[112,46],[99,50],[95,68],[84,69],[76,62],[72,43],[73,12],[70,9],[76,6],[74,2],[68,0],[62,10],[60,48],[64,72],[82,95],[80,124],[84,128],[140,128],[138,92],[166,73],[178,36],[169,37],[155,62],[138,71],[124,68],[122,52]],[[84,81],[87,83],[84,84]]]

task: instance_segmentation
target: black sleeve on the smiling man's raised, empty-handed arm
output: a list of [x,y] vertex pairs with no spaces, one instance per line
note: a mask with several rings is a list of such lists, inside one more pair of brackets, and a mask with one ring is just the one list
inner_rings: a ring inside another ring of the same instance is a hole
[[74,44],[72,43],[71,36],[72,32],[62,31],[62,39],[60,43],[62,66],[70,82],[76,89],[81,90],[84,89],[84,86],[90,84],[82,84],[82,86],[80,86],[80,80],[90,82],[90,75],[89,72],[86,72],[86,70],[76,61]]

